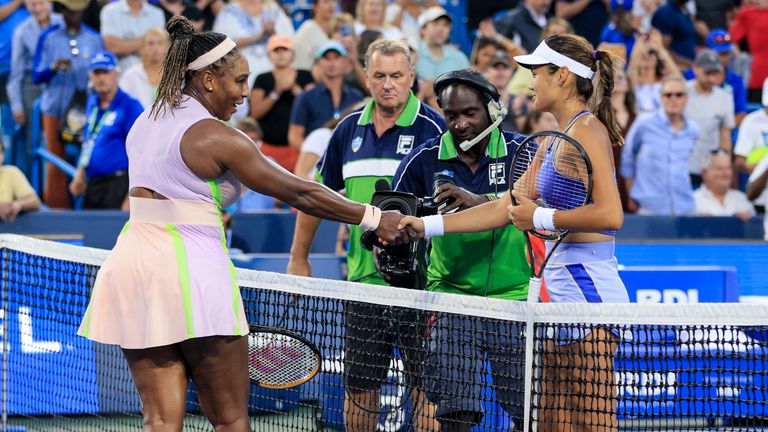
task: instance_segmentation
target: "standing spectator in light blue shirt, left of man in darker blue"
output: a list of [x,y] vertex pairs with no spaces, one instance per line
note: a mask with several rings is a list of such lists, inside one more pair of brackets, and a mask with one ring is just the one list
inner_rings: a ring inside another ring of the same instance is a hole
[[[32,15],[13,31],[11,48],[11,74],[6,90],[13,111],[13,119],[19,126],[26,126],[26,153],[31,157],[32,128],[27,124],[32,116],[32,107],[40,97],[40,86],[32,82],[32,60],[40,33],[51,25],[61,25],[64,21],[59,14],[51,13],[50,0],[25,0],[24,4]],[[18,148],[18,147],[17,147]]]

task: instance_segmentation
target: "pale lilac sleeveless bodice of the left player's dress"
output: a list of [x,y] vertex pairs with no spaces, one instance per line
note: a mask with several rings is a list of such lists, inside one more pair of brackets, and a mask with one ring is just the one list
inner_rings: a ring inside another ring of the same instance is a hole
[[218,179],[203,179],[181,157],[181,139],[194,124],[214,117],[197,99],[183,96],[178,108],[150,117],[147,108],[126,139],[129,190],[143,187],[168,199],[204,201],[226,208],[244,191],[229,171]]

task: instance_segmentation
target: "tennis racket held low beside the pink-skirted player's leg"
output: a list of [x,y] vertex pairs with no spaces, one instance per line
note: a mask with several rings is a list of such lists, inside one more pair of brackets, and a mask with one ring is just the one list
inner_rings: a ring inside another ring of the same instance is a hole
[[311,380],[320,370],[320,350],[306,338],[282,328],[289,309],[286,307],[276,327],[250,326],[248,377],[260,387],[295,387]]

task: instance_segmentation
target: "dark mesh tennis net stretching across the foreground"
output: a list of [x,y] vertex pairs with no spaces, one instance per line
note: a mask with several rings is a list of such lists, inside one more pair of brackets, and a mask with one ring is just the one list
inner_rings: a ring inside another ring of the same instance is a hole
[[[2,430],[128,431],[119,348],[76,335],[106,251],[0,235]],[[768,430],[768,306],[564,305],[238,270],[248,320],[323,356],[251,387],[259,431]],[[345,408],[346,404],[346,408]],[[193,386],[185,430],[210,430]],[[346,413],[346,415],[345,415]]]

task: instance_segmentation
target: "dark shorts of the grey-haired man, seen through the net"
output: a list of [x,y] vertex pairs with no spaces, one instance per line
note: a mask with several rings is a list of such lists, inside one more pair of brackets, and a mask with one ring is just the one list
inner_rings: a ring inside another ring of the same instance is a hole
[[378,390],[387,380],[397,347],[406,384],[421,387],[427,357],[427,314],[359,302],[344,305],[344,377],[348,391]]

